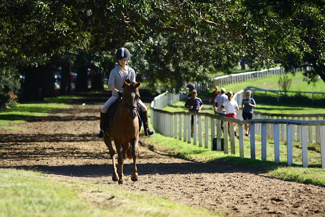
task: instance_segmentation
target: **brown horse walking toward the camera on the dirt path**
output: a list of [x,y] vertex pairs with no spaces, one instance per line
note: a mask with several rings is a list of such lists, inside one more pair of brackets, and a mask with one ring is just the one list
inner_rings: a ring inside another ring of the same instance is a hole
[[[139,120],[136,108],[140,99],[139,89],[140,82],[131,82],[128,79],[124,81],[122,100],[116,108],[113,124],[110,129],[106,130],[104,142],[109,149],[113,161],[113,181],[119,184],[124,183],[123,163],[124,159],[133,158],[132,181],[138,180],[136,161],[139,159],[138,141],[139,141]],[[119,173],[117,178],[117,169],[115,165],[115,150],[112,147],[114,140],[117,155]]]

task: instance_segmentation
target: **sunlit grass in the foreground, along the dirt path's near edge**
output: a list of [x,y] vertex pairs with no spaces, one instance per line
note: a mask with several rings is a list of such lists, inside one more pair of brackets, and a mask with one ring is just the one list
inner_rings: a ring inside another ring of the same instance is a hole
[[0,169],[0,216],[218,216],[148,194],[46,176]]

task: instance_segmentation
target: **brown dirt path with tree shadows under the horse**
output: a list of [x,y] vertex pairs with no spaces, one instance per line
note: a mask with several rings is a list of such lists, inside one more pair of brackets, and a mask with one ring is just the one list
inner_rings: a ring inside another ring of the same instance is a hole
[[270,178],[265,171],[227,162],[173,158],[143,146],[139,180],[131,181],[132,162],[127,160],[125,184],[118,185],[111,179],[107,147],[94,139],[99,115],[78,129],[104,101],[105,97],[89,97],[72,102],[69,109],[17,125],[25,130],[0,129],[0,167],[37,167],[56,178],[114,185],[235,216],[325,215],[325,189],[321,187]]

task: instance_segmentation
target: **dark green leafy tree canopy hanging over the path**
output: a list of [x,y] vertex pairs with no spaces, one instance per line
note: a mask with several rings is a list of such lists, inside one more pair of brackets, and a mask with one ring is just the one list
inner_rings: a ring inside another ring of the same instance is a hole
[[[61,59],[103,69],[117,48],[151,90],[280,61],[309,66],[325,81],[325,7],[321,0],[11,1],[0,3],[0,69]],[[82,61],[78,56],[86,55]]]

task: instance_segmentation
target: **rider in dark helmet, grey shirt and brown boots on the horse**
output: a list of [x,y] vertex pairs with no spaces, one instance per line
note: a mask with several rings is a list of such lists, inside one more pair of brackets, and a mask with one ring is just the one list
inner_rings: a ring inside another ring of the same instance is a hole
[[[104,138],[104,134],[105,134],[104,131],[107,125],[108,108],[118,98],[122,97],[122,92],[123,92],[122,85],[124,84],[124,80],[129,79],[132,82],[136,81],[135,70],[126,66],[129,57],[130,57],[130,52],[128,51],[128,49],[124,47],[117,49],[116,58],[118,60],[118,66],[116,66],[111,71],[110,77],[108,79],[108,89],[111,90],[113,93],[112,93],[112,97],[106,101],[106,103],[104,104],[101,110],[101,122],[100,122],[101,130],[98,132],[98,134],[96,134],[95,136],[96,138],[101,138],[101,139]],[[139,100],[138,105],[140,105],[141,112],[142,112],[142,120],[143,120],[145,135],[146,136],[155,135],[155,132],[148,125],[147,107],[141,100]]]

